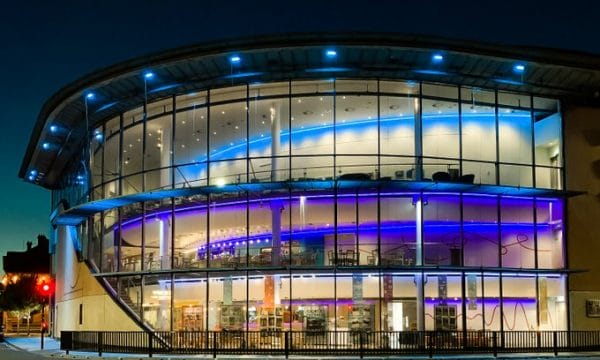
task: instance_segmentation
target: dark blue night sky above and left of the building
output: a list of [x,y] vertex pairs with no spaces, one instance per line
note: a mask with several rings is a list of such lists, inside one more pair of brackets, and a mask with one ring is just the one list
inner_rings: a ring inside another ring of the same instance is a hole
[[[50,192],[17,177],[37,114],[115,62],[221,38],[318,31],[435,35],[600,54],[599,1],[10,1],[0,13],[0,255],[49,235]],[[1,261],[1,260],[0,260]]]

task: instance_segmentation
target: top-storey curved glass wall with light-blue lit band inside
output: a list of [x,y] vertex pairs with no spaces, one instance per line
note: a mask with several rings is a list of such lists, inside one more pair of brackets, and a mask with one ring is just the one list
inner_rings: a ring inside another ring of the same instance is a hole
[[291,81],[163,99],[91,141],[94,199],[317,179],[561,189],[558,101],[383,80]]

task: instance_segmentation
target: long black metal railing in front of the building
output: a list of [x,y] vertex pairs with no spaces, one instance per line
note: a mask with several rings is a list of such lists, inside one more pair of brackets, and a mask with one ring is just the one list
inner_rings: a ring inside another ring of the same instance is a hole
[[131,354],[429,355],[600,351],[600,331],[62,331],[61,350]]

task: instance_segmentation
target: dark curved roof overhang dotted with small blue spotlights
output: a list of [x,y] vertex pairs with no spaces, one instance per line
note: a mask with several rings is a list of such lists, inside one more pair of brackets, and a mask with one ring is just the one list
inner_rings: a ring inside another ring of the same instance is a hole
[[[334,60],[323,50],[333,46]],[[432,65],[431,55],[444,53]],[[243,61],[232,68],[231,54]],[[522,75],[516,62],[526,64]],[[36,183],[56,188],[70,162],[82,151],[85,94],[89,126],[143,103],[143,72],[156,75],[148,100],[197,90],[287,79],[330,77],[398,78],[528,92],[600,105],[600,56],[542,48],[490,45],[414,35],[343,33],[295,34],[227,40],[188,46],[110,66],[63,87],[42,107],[19,177],[38,172]],[[50,134],[51,124],[64,129]],[[45,139],[55,151],[43,151]]]

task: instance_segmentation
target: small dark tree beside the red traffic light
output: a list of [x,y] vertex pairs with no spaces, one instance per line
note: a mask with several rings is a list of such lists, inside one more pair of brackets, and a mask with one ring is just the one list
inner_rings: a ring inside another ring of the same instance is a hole
[[31,314],[39,311],[40,304],[45,300],[36,291],[36,284],[37,276],[23,275],[18,281],[6,284],[0,295],[0,309],[16,313],[19,320],[21,314],[27,315],[27,334]]

